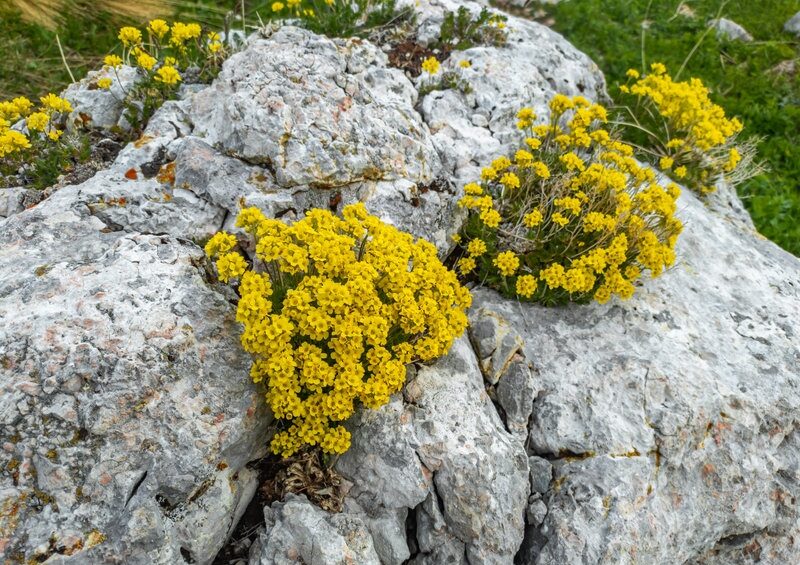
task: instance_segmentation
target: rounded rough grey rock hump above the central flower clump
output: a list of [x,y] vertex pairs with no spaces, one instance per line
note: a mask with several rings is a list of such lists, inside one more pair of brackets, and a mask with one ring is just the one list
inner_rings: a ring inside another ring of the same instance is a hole
[[416,97],[372,44],[284,27],[226,62],[192,120],[212,145],[270,165],[281,186],[425,183],[440,164]]

